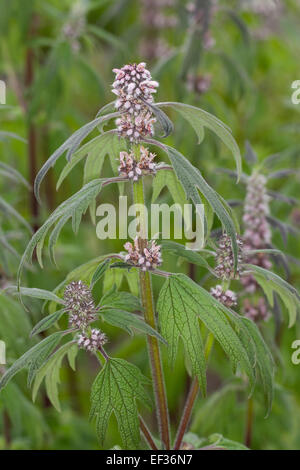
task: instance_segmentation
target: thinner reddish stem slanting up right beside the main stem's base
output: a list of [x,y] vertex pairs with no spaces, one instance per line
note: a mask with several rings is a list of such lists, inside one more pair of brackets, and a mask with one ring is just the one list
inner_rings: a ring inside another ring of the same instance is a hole
[[[207,340],[206,340],[205,349],[204,349],[204,356],[205,356],[206,361],[208,361],[213,343],[214,343],[214,337],[211,333],[209,333]],[[191,385],[191,388],[188,393],[188,397],[184,406],[183,415],[179,424],[179,428],[178,428],[175,443],[174,443],[174,450],[179,450],[181,447],[182,439],[187,430],[190,417],[193,411],[194,403],[198,395],[198,391],[199,391],[199,383],[198,383],[198,379],[195,378]]]

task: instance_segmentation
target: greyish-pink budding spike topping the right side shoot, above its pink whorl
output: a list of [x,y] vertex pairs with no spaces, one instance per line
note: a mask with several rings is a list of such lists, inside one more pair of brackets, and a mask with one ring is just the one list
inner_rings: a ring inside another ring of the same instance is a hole
[[217,257],[216,262],[217,266],[215,267],[215,273],[220,279],[238,279],[240,275],[240,266],[239,264],[242,261],[242,247],[243,242],[240,238],[237,237],[238,245],[238,265],[236,273],[234,272],[234,255],[232,250],[232,242],[230,237],[227,234],[221,236],[218,240],[217,248]]

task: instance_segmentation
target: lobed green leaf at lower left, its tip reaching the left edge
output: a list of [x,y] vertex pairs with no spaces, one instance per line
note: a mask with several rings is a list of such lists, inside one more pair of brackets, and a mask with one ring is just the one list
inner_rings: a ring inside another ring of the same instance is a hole
[[0,380],[0,390],[8,384],[17,372],[24,368],[28,369],[27,384],[28,386],[31,386],[37,371],[47,360],[53,349],[56,348],[64,334],[64,331],[53,333],[53,335],[43,339],[43,341],[36,344],[33,348],[23,354],[23,356],[14,362],[14,364],[2,376]]

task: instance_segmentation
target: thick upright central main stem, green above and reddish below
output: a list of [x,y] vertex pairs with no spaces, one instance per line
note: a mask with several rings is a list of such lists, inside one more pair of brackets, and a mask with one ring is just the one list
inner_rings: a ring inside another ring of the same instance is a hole
[[[139,154],[139,147],[135,147]],[[143,179],[133,183],[133,199],[139,204],[139,245],[143,250],[147,243],[147,219],[145,214]],[[155,310],[152,295],[151,274],[139,270],[140,293],[144,308],[144,318],[152,328],[156,329]],[[147,336],[152,380],[154,384],[154,395],[156,401],[156,413],[159,424],[160,436],[165,449],[170,449],[169,412],[165,389],[165,380],[162,369],[161,354],[158,340],[154,336]]]

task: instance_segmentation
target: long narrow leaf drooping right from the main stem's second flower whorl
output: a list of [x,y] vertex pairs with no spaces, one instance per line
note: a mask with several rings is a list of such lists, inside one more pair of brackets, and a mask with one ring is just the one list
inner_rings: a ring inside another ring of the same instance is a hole
[[177,178],[182,183],[186,196],[196,204],[201,204],[198,189],[207,199],[209,205],[217,214],[224,229],[232,241],[232,249],[235,258],[235,267],[237,265],[237,241],[236,226],[232,220],[230,208],[226,206],[224,199],[205,181],[198,168],[195,168],[181,153],[177,150],[164,145],[172,162]]

